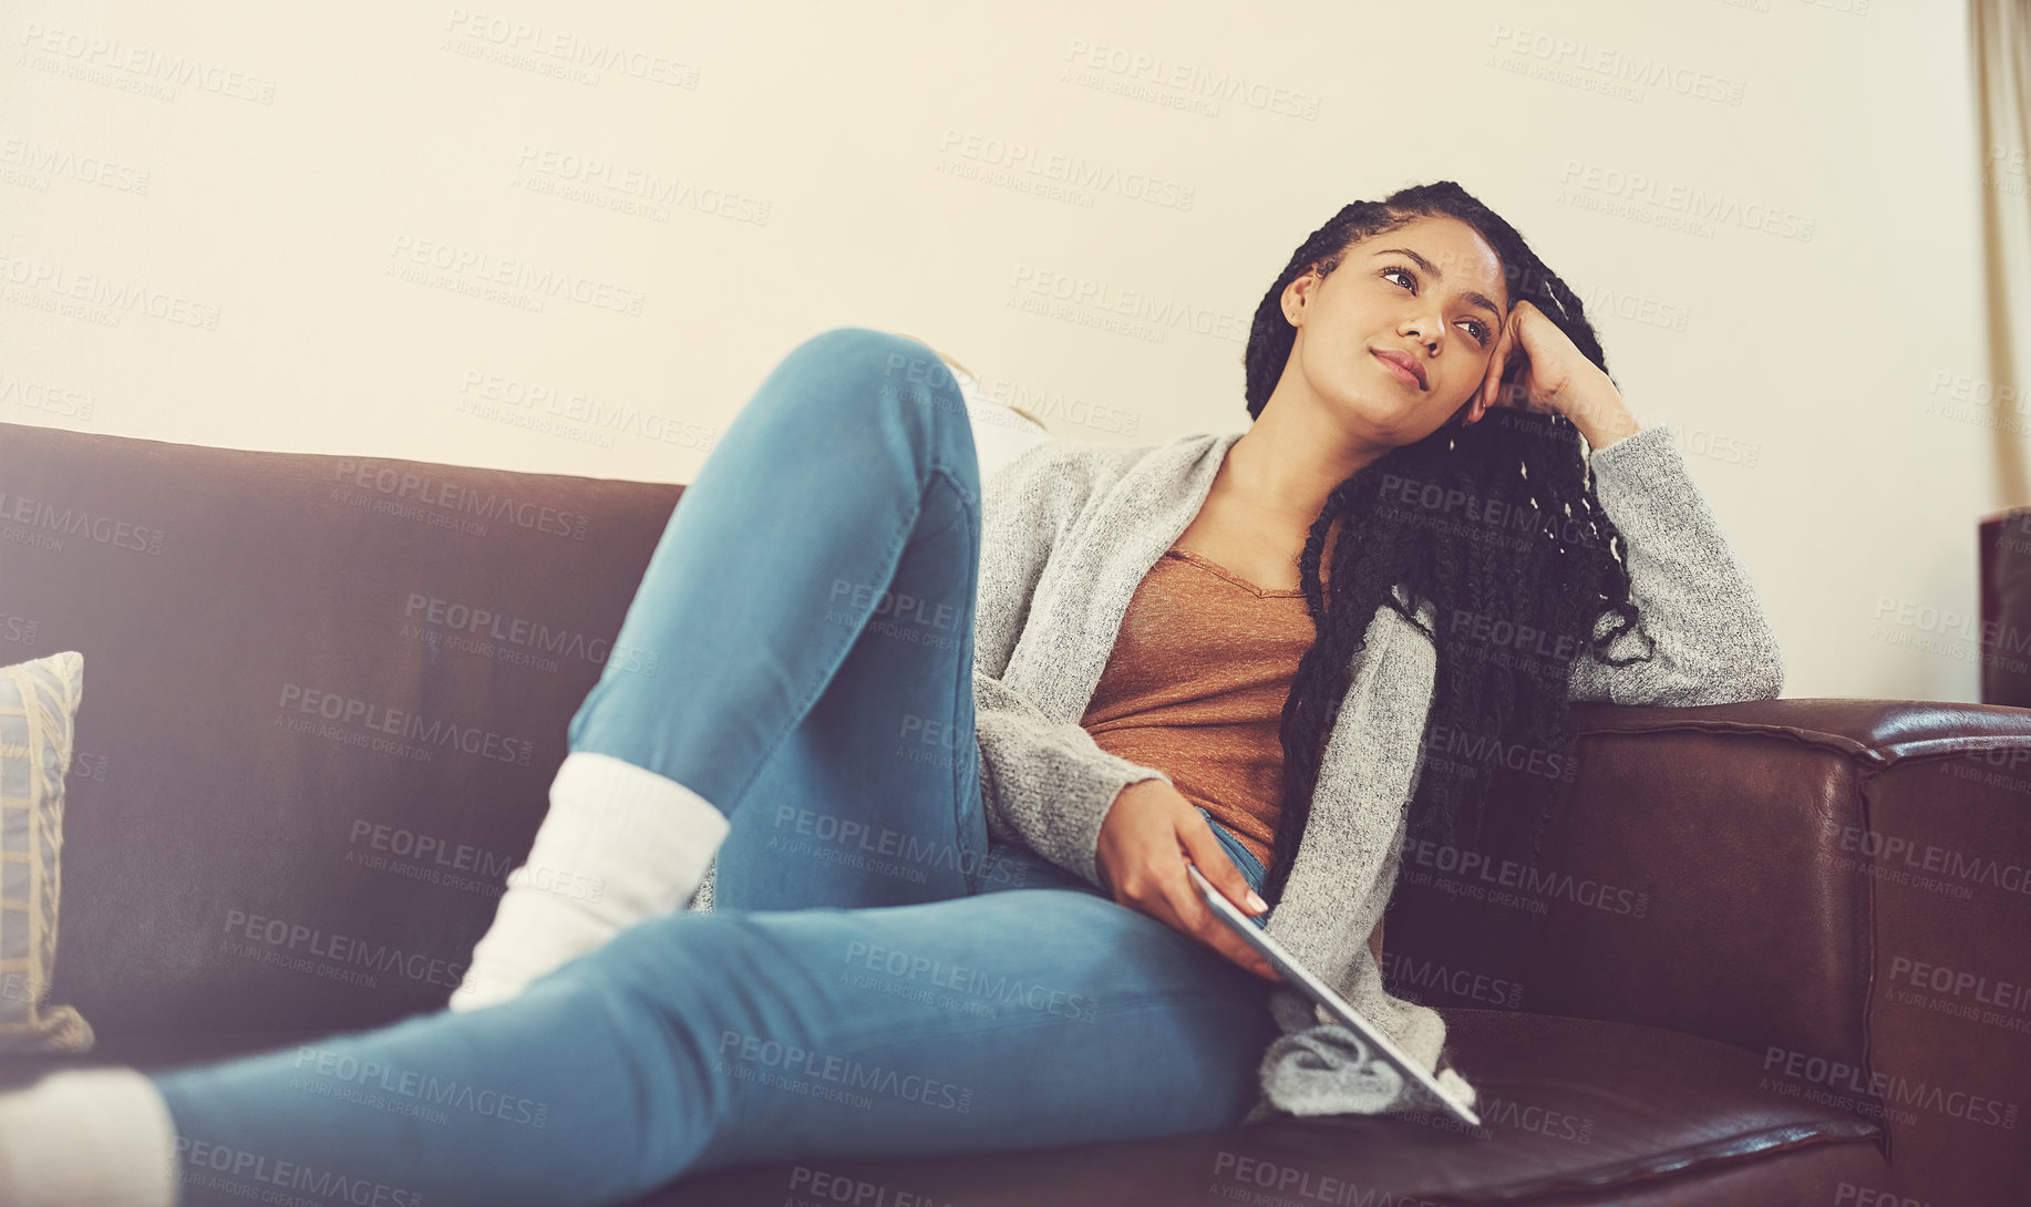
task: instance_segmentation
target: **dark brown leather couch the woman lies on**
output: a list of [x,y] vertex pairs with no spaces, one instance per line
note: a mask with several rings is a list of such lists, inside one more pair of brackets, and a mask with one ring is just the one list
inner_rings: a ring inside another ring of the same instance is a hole
[[[55,998],[100,1034],[0,1085],[443,1006],[680,492],[0,423],[0,618],[26,622],[0,636],[32,632],[0,662],[85,654]],[[388,748],[390,709],[441,740]],[[1531,882],[1405,860],[1399,900],[1438,923],[1391,920],[1389,977],[1446,1010],[1481,1134],[1284,1120],[751,1166],[644,1203],[2025,1203],[2031,711],[1580,723]],[[1527,912],[1527,941],[1487,941]],[[248,918],[404,957],[368,973]]]

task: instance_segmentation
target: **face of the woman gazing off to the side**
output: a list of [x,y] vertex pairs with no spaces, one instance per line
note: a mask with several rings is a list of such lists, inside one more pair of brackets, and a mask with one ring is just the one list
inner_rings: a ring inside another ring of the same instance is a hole
[[[1416,443],[1481,388],[1507,313],[1495,248],[1456,217],[1418,217],[1284,291],[1284,315],[1298,325],[1286,376],[1302,372],[1351,435]],[[1424,382],[1377,354],[1399,354]]]

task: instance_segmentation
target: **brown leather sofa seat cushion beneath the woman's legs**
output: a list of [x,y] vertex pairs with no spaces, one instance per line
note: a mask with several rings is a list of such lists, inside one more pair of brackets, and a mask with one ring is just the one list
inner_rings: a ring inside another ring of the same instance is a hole
[[[786,1201],[967,1203],[1773,1203],[1887,1181],[1879,1128],[1759,1089],[1761,1057],[1621,1022],[1446,1010],[1483,1134],[1414,1118],[1330,1116],[1164,1140],[920,1158],[806,1158],[680,1179],[636,1207]],[[116,1036],[89,1055],[0,1059],[0,1089],[51,1069],[169,1069],[311,1042],[270,1030]],[[875,1187],[875,1189],[867,1189]],[[883,1195],[886,1191],[886,1195]],[[912,1199],[914,1195],[914,1199]],[[1716,1197],[1718,1195],[1718,1197]]]

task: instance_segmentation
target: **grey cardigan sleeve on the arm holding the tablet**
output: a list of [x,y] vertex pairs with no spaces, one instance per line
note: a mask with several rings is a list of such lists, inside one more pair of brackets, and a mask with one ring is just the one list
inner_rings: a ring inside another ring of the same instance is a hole
[[1038,581],[1085,506],[1095,449],[1042,441],[981,484],[981,577],[973,616],[973,732],[987,831],[1103,886],[1101,823],[1121,788],[1170,776],[1099,748],[1076,721],[1050,719],[1001,681]]

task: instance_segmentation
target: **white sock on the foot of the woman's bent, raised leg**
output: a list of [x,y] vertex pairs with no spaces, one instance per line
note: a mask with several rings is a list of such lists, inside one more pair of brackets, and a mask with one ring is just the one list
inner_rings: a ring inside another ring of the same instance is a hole
[[619,931],[684,908],[727,829],[727,815],[684,784],[573,750],[449,1008],[508,1002]]

